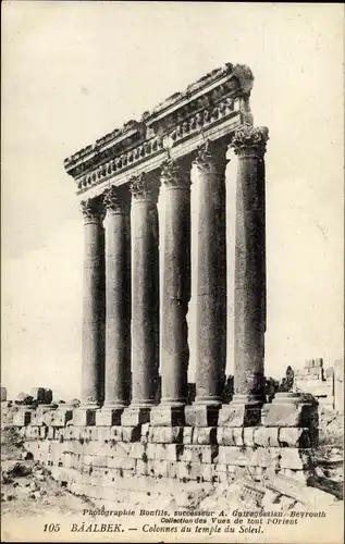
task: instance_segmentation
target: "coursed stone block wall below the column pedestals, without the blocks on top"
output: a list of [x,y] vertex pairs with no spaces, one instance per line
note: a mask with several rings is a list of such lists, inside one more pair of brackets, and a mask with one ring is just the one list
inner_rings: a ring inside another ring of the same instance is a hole
[[[311,435],[293,428],[22,428],[26,447],[72,492],[111,499],[114,489],[162,489],[171,482],[270,475],[306,483],[313,473]],[[116,486],[114,484],[116,482]]]

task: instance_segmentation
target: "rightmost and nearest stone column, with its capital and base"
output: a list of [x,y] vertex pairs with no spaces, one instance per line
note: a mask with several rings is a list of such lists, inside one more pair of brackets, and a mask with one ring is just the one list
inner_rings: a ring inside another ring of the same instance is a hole
[[266,180],[268,129],[245,126],[232,147],[238,157],[235,232],[234,397],[219,424],[251,425],[264,403]]

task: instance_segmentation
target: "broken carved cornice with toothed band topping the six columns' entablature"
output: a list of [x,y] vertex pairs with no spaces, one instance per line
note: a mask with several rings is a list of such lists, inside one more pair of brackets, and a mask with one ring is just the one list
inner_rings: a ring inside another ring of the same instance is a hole
[[64,166],[74,177],[77,191],[86,191],[133,165],[163,154],[165,136],[172,146],[184,144],[242,111],[243,104],[247,108],[252,81],[247,66],[227,63],[189,85],[185,92],[175,92],[152,112],[145,112],[140,121],[130,121],[74,153]]

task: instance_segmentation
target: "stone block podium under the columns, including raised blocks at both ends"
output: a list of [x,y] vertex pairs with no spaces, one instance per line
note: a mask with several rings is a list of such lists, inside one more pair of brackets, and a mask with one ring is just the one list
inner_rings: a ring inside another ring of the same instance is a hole
[[151,484],[157,493],[188,482],[212,487],[241,477],[259,486],[278,475],[305,485],[315,475],[318,406],[307,395],[276,394],[258,424],[231,417],[218,426],[83,426],[74,420],[67,405],[23,406],[10,424],[56,479],[91,498]]

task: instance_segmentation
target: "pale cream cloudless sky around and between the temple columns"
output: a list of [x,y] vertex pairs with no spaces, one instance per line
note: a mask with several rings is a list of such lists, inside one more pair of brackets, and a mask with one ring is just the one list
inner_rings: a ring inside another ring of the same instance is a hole
[[[79,395],[83,221],[64,158],[225,62],[252,70],[255,124],[270,131],[266,372],[343,357],[343,28],[332,3],[2,3],[10,396],[34,386]],[[229,176],[235,169],[233,158]]]

